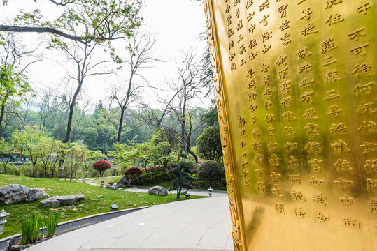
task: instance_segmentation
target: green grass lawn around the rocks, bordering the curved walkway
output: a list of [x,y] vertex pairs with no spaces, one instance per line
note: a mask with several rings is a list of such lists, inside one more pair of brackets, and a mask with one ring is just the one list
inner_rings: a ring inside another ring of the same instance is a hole
[[[10,213],[4,225],[3,234],[0,238],[5,238],[13,234],[19,234],[22,227],[24,215],[36,212],[42,216],[59,212],[59,222],[81,218],[87,215],[104,213],[110,211],[111,204],[118,204],[118,209],[136,208],[139,206],[150,206],[165,204],[184,198],[176,199],[176,195],[158,196],[148,195],[138,192],[125,192],[99,188],[79,182],[59,181],[48,178],[28,178],[24,176],[12,176],[0,174],[0,187],[9,184],[27,185],[29,188],[43,188],[50,196],[54,195],[85,195],[84,201],[79,201],[73,206],[59,206],[58,208],[43,208],[39,201],[22,201],[16,204],[6,205],[0,203],[0,208],[4,208],[6,213]],[[190,199],[197,199],[199,196],[192,196]]]

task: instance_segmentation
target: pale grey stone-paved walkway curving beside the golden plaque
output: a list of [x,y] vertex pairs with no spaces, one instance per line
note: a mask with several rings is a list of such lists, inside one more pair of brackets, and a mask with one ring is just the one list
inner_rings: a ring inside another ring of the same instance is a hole
[[62,234],[30,251],[233,250],[227,197],[190,199]]

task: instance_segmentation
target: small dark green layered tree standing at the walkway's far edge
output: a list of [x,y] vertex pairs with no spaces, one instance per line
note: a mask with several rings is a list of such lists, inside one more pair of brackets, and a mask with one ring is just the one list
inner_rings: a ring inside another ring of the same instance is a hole
[[171,166],[173,169],[169,170],[170,174],[176,175],[176,178],[171,181],[172,187],[170,190],[177,190],[177,199],[180,197],[180,192],[182,188],[193,188],[192,185],[189,183],[190,181],[196,181],[196,178],[190,176],[192,174],[192,169],[190,165],[188,165],[184,161],[180,161]]

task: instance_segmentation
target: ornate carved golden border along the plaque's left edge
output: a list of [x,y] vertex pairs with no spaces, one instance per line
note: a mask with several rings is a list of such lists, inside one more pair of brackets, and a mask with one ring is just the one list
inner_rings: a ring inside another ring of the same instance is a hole
[[211,15],[211,0],[204,0],[204,13],[206,15],[206,29],[208,36],[208,47],[210,52],[210,58],[212,63],[213,70],[213,82],[215,84],[216,91],[216,105],[218,107],[218,119],[220,125],[220,137],[222,144],[222,153],[224,158],[224,167],[225,175],[227,178],[227,191],[229,197],[229,209],[230,216],[232,220],[232,237],[234,243],[234,250],[243,250],[242,238],[241,238],[241,226],[239,211],[236,205],[236,193],[235,193],[235,183],[234,183],[234,167],[232,162],[229,161],[229,156],[231,151],[229,149],[229,138],[228,138],[228,129],[227,123],[225,121],[225,105],[222,93],[222,83],[220,83],[219,78],[219,68],[218,68],[218,59],[215,52],[215,35],[212,29],[212,19]]

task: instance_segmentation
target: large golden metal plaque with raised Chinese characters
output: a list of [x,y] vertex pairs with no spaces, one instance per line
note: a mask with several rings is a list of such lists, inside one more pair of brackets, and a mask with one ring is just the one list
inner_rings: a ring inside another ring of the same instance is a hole
[[204,0],[235,250],[377,250],[374,0]]

